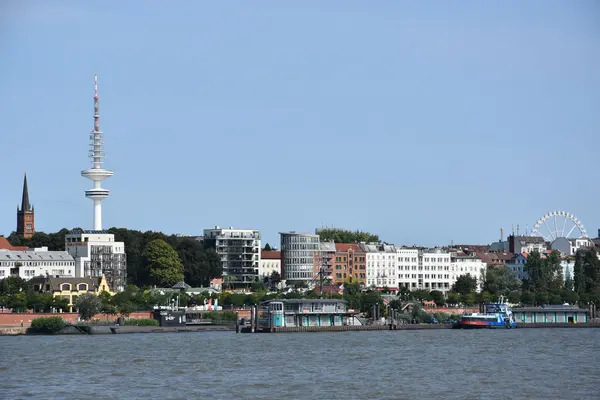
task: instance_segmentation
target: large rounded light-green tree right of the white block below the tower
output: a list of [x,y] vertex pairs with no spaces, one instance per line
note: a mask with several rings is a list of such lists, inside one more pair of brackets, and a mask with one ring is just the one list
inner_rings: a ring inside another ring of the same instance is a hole
[[171,287],[184,279],[179,255],[167,242],[156,239],[148,243],[144,251],[148,272],[155,285]]

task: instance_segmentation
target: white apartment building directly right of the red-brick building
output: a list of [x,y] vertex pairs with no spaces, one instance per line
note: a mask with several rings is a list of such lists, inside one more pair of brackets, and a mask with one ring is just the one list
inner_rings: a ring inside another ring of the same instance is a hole
[[398,290],[398,261],[396,247],[387,244],[362,244],[361,249],[365,252],[367,287],[377,289],[388,288],[392,291]]

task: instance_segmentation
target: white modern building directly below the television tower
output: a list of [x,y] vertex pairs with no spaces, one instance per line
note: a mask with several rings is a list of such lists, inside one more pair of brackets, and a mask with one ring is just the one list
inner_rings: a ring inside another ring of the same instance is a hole
[[75,277],[99,278],[102,275],[111,290],[120,292],[127,284],[125,243],[100,230],[73,230],[65,235],[65,248],[75,259]]

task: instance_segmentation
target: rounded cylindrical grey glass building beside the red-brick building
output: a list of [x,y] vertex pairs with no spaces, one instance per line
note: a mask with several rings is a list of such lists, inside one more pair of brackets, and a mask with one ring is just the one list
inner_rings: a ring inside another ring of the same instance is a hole
[[322,265],[319,235],[280,232],[281,269],[288,285],[310,284]]

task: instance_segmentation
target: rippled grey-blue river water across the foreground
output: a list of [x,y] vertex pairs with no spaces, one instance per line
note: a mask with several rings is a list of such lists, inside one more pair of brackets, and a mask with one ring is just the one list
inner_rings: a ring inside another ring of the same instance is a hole
[[599,399],[600,329],[0,337],[0,399]]

